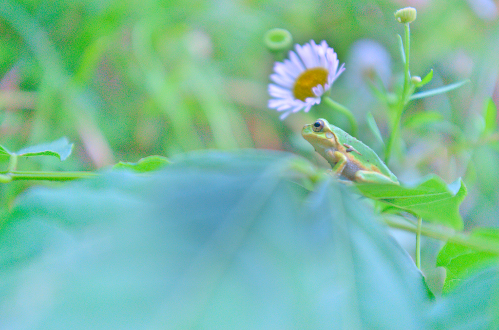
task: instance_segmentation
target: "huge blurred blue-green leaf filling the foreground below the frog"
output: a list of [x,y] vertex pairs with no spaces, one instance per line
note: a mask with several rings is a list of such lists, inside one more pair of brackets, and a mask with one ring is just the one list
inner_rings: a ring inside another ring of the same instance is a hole
[[202,153],[33,188],[0,232],[0,329],[429,329],[421,273],[289,154]]

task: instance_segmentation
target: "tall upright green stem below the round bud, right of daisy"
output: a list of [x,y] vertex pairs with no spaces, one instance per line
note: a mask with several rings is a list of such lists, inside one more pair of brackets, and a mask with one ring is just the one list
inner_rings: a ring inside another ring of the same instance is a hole
[[405,31],[405,63],[404,63],[404,89],[402,91],[402,95],[399,99],[399,103],[396,109],[396,115],[392,125],[392,132],[390,133],[390,137],[388,138],[388,143],[386,144],[385,151],[385,163],[388,165],[390,161],[390,156],[392,154],[393,144],[397,140],[400,131],[400,121],[402,119],[402,113],[404,112],[404,108],[409,102],[409,97],[411,94],[411,74],[409,72],[409,52],[411,49],[411,31],[409,29],[409,23],[404,24]]

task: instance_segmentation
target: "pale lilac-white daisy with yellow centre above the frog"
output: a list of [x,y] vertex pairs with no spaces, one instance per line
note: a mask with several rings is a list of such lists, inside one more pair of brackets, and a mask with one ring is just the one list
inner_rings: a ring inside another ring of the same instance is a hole
[[273,97],[268,100],[268,107],[282,111],[281,120],[301,109],[308,112],[319,104],[322,94],[345,70],[344,63],[338,69],[338,57],[324,40],[319,45],[310,40],[294,48],[296,52],[289,51],[289,59],[275,62],[270,75],[275,84],[268,85],[268,94]]

